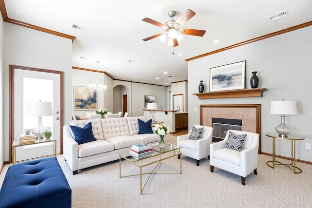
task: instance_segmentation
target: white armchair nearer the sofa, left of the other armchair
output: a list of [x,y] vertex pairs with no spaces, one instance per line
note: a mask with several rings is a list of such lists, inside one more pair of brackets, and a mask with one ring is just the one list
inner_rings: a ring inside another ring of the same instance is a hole
[[[196,160],[196,165],[199,166],[199,160],[209,156],[209,145],[213,140],[213,128],[208,126],[194,125],[196,129],[203,127],[200,139],[193,140],[189,139],[191,131],[188,134],[177,136],[176,144],[181,147],[183,155],[191,157]],[[180,156],[180,155],[178,155]],[[179,157],[178,157],[179,158]]]

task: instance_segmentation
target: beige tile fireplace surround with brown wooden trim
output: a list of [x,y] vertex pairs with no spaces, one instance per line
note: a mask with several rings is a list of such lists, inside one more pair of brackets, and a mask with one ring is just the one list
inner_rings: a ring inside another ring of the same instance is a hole
[[242,120],[242,131],[260,135],[259,150],[261,153],[260,104],[235,105],[200,105],[200,125],[213,126],[212,118]]

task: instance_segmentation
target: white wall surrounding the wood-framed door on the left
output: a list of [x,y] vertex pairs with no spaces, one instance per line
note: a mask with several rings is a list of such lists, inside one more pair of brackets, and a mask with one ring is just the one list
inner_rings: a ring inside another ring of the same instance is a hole
[[72,40],[4,22],[3,160],[9,160],[9,65],[64,72],[64,124],[72,112]]

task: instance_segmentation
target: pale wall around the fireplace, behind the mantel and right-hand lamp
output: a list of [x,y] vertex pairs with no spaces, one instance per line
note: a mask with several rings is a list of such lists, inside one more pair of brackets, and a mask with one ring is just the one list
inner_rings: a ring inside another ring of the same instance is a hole
[[[189,128],[199,124],[201,104],[261,104],[261,148],[263,152],[272,153],[272,139],[265,133],[275,132],[280,116],[269,113],[270,103],[272,100],[296,100],[298,114],[286,116],[286,123],[292,133],[305,137],[296,143],[296,157],[312,161],[312,150],[305,149],[305,143],[312,143],[311,37],[312,26],[189,61]],[[246,88],[251,88],[250,77],[257,71],[258,87],[268,89],[263,97],[198,100],[193,95],[198,93],[199,80],[204,80],[204,92],[209,92],[210,68],[242,60],[246,60]],[[291,142],[278,140],[276,154],[291,157]]]

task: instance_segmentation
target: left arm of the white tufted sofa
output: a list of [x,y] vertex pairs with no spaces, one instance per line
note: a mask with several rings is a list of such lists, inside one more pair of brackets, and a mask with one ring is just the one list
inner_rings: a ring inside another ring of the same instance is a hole
[[63,153],[69,168],[78,170],[78,143],[72,137],[69,125],[63,126]]

